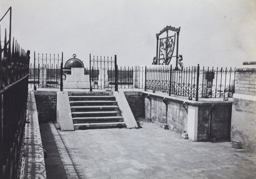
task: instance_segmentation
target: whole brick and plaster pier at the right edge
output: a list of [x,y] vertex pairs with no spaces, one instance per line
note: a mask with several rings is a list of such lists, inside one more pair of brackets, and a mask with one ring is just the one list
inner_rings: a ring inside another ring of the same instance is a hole
[[244,63],[236,69],[233,94],[231,141],[256,148],[256,65]]

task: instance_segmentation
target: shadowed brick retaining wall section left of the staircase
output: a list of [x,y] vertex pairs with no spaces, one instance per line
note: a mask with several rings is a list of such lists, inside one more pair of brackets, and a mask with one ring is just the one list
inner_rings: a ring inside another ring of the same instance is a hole
[[34,91],[39,123],[56,121],[57,93]]

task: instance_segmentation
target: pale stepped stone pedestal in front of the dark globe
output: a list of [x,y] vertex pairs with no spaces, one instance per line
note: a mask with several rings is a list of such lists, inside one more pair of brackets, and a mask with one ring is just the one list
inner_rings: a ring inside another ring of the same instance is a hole
[[90,75],[84,74],[84,68],[71,68],[63,81],[63,88],[90,89]]

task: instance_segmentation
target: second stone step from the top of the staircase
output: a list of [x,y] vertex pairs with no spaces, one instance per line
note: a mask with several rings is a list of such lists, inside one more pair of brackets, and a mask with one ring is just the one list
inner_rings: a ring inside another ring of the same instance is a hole
[[114,96],[69,96],[70,101],[115,101]]

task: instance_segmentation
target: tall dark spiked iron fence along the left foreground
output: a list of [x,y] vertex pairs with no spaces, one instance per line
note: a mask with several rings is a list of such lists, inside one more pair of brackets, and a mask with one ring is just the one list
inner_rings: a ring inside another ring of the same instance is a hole
[[29,54],[11,40],[0,44],[0,178],[17,178],[26,123]]

